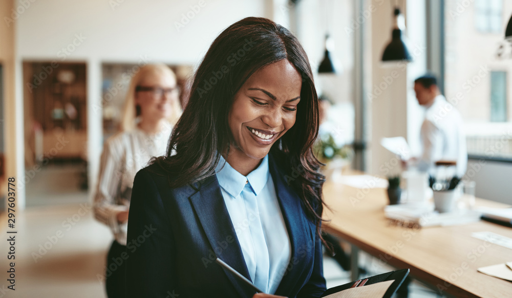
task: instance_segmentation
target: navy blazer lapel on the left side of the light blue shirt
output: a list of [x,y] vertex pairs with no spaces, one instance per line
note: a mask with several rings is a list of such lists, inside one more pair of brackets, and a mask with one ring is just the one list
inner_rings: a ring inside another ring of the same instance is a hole
[[[240,242],[224,203],[217,176],[212,175],[202,180],[199,190],[191,195],[189,200],[199,217],[212,251],[215,252],[218,258],[240,272],[248,280],[251,280]],[[219,219],[223,220],[219,221]],[[223,243],[223,241],[227,243],[225,248],[219,244]],[[229,281],[241,296],[252,296],[254,294],[247,287],[242,287],[240,281],[233,276],[233,273],[224,267],[222,268]]]

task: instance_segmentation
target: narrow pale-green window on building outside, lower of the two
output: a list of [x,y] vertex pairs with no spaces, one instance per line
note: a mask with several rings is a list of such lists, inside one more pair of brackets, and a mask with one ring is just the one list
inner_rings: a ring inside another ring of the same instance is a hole
[[507,121],[506,73],[490,73],[490,121]]

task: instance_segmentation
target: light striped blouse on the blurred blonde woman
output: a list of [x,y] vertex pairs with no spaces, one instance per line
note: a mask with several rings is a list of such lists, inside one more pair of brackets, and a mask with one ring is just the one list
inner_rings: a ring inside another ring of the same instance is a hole
[[151,157],[165,155],[171,132],[170,123],[156,134],[148,134],[137,127],[116,133],[103,146],[94,195],[94,217],[108,225],[122,245],[126,245],[128,225],[117,221],[117,213],[129,210],[135,174],[147,166]]

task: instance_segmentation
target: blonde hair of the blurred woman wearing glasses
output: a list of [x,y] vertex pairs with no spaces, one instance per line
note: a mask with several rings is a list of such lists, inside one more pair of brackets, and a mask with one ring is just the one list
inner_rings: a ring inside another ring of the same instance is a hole
[[[135,104],[135,89],[144,77],[150,74],[170,75],[176,80],[175,73],[165,64],[146,64],[140,67],[139,71],[132,77],[130,87],[126,93],[120,125],[122,131],[132,130],[136,126],[135,119],[140,116],[140,109],[138,109]],[[167,120],[174,126],[181,116],[182,109],[178,97],[171,97],[170,101],[172,111]]]

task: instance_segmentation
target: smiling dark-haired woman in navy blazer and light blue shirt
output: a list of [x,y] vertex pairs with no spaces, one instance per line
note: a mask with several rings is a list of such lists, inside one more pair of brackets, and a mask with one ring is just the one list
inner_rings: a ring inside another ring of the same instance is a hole
[[255,294],[216,258],[265,293],[321,296],[317,133],[313,75],[295,36],[255,17],[224,30],[198,67],[167,155],[135,177],[128,241],[150,223],[155,232],[128,251],[127,297]]

